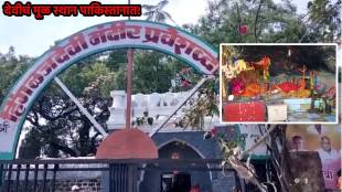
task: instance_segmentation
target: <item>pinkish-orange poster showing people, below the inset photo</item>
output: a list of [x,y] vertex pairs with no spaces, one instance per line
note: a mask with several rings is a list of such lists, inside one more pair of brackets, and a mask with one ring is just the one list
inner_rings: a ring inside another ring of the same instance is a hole
[[289,125],[291,151],[318,151],[327,189],[338,189],[341,170],[341,125]]

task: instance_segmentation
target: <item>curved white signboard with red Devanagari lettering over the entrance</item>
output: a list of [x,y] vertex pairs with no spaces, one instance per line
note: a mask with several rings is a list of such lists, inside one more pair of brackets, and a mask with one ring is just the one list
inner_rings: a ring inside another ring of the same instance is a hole
[[12,87],[0,109],[0,159],[14,158],[26,113],[58,73],[92,54],[122,47],[157,50],[207,75],[218,68],[218,55],[212,47],[170,25],[129,20],[83,30],[45,52]]

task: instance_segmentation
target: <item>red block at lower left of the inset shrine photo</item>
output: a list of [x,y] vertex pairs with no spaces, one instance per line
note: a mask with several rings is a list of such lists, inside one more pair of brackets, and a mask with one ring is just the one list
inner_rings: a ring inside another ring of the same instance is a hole
[[224,121],[265,121],[265,104],[248,102],[227,104],[223,108]]

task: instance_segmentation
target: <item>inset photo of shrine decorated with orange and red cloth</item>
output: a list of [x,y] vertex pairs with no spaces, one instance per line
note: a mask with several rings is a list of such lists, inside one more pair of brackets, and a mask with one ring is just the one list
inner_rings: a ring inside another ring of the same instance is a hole
[[[336,120],[335,71],[324,68],[335,61],[302,58],[304,47],[298,45],[278,46],[268,54],[263,49],[259,46],[260,52],[255,53],[257,49],[248,46],[223,46],[223,121]],[[334,56],[328,49],[309,49]]]

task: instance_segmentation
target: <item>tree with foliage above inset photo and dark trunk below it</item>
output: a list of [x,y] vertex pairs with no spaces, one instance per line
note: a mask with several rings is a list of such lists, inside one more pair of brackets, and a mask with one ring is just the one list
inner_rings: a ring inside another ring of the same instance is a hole
[[[185,25],[185,29],[206,40],[217,50],[222,42],[332,42],[332,39],[329,39],[329,36],[341,35],[341,29],[336,25],[340,20],[333,19],[333,17],[340,15],[341,1],[338,1],[334,6],[327,6],[329,4],[327,0],[314,0],[312,4],[324,4],[312,7],[311,10],[313,12],[311,11],[309,14],[311,14],[311,22],[314,25],[320,24],[321,20],[330,24],[329,29],[331,30],[325,30],[327,35],[316,34],[316,30],[320,29],[321,25],[307,30],[307,21],[302,15],[296,13],[296,8],[288,0],[282,3],[275,3],[272,0],[209,1],[209,13],[202,17],[197,24]],[[242,25],[247,26],[248,31],[246,34],[241,33],[239,29]],[[209,96],[213,95],[211,92],[209,93],[206,93]],[[211,100],[211,103],[214,102],[215,99]],[[200,128],[202,121],[199,119],[206,115],[205,111],[209,111],[209,107],[202,108],[201,105],[193,105],[185,114],[188,118],[180,119],[178,125]],[[205,136],[207,135],[210,134],[206,132]],[[271,162],[276,169],[281,191],[303,191],[306,186],[293,183],[293,177],[290,171],[289,151],[286,146],[286,126],[278,126],[274,131],[267,132],[266,136],[270,137],[270,143],[267,147],[271,152]],[[223,147],[228,143],[231,142],[223,143]],[[231,147],[234,148],[234,145]],[[223,157],[234,159],[232,157],[234,156],[232,148],[224,151]]]

